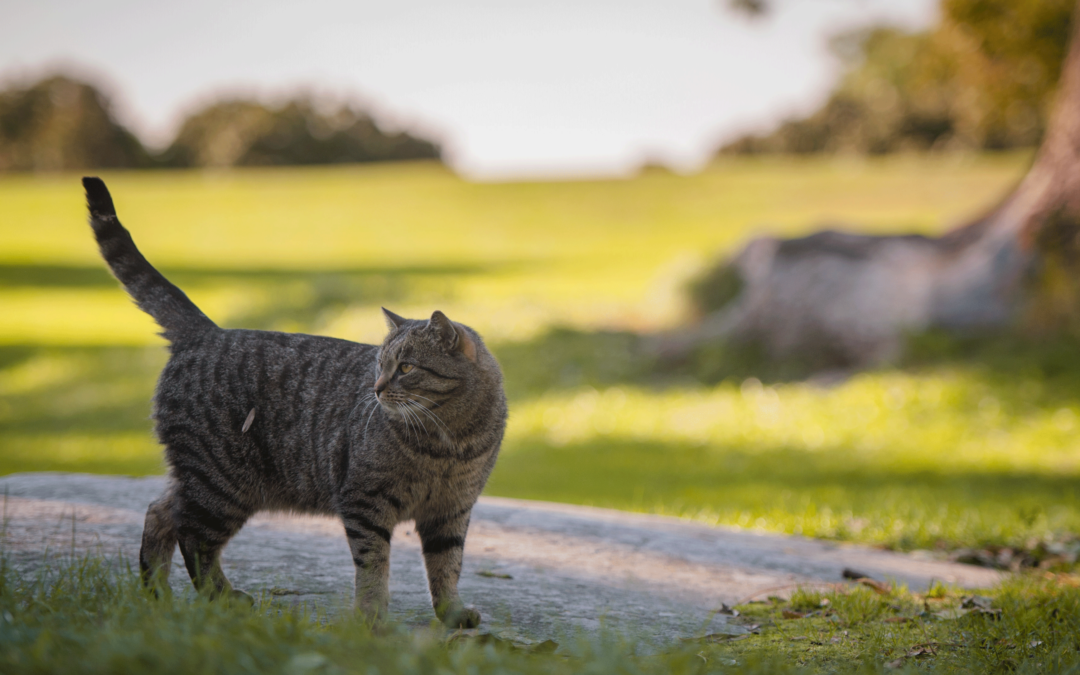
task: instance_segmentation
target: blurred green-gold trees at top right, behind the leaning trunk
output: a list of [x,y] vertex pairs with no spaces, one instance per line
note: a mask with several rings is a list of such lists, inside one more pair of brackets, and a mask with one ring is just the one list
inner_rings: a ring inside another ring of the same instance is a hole
[[924,32],[834,38],[843,76],[825,105],[723,153],[1001,150],[1039,144],[1074,0],[943,0]]

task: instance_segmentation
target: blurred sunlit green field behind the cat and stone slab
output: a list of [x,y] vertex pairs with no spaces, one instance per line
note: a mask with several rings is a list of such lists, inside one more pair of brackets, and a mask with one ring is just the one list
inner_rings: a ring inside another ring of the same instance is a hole
[[[504,185],[429,164],[104,177],[150,260],[220,325],[378,341],[386,305],[481,330],[512,409],[487,494],[1067,564],[1071,342],[931,336],[905,367],[828,388],[730,354],[664,367],[639,343],[755,233],[939,232],[1026,161],[732,160]],[[163,342],[98,259],[77,177],[0,178],[0,473],[161,472]]]

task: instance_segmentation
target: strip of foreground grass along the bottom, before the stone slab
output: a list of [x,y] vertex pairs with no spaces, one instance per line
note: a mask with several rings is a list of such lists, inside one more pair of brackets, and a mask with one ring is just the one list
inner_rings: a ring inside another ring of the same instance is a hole
[[875,584],[799,590],[734,608],[752,633],[643,652],[632,636],[515,644],[372,626],[260,598],[154,599],[100,558],[40,576],[0,563],[0,672],[23,673],[1070,673],[1080,671],[1080,580],[1023,576],[985,596]]

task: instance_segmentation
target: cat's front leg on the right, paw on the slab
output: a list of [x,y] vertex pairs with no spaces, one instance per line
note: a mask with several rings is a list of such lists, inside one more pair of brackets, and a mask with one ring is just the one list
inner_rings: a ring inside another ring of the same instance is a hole
[[428,586],[435,616],[453,627],[474,629],[480,625],[480,612],[465,607],[458,597],[461,557],[472,504],[458,513],[417,518],[416,531],[423,548],[423,565],[428,569]]

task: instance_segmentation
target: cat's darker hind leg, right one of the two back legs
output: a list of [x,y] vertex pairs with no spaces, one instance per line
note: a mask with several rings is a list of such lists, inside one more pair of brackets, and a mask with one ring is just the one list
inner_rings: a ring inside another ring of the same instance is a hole
[[191,582],[211,597],[252,600],[229,583],[221,569],[221,549],[240,531],[253,510],[206,480],[186,476],[178,490],[177,540]]

